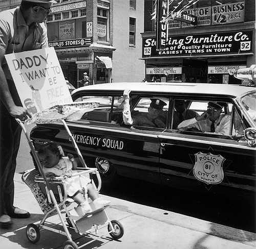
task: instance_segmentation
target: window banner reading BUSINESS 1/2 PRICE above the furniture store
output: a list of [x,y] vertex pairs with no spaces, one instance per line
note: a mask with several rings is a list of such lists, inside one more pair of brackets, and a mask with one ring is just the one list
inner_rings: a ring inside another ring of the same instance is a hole
[[212,25],[242,21],[244,21],[244,2],[212,6]]

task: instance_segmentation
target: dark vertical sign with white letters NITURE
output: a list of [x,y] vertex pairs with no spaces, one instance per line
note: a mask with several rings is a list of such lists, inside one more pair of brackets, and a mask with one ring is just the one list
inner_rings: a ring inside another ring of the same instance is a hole
[[165,46],[168,37],[168,24],[163,21],[168,15],[167,0],[157,0],[156,5],[156,46],[157,49],[161,49]]

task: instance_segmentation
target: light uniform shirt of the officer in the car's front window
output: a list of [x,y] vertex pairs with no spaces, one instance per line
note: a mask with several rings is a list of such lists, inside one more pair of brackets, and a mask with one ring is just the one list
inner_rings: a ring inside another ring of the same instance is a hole
[[[184,120],[178,125],[178,129],[187,130],[189,128],[197,128],[202,132],[210,132],[211,121],[209,118],[197,121],[196,118]],[[215,121],[215,134],[229,135],[230,115],[221,114]]]

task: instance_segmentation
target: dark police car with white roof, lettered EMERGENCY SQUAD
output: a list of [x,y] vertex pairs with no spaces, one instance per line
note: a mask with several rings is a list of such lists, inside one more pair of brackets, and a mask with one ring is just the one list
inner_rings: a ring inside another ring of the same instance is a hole
[[[152,99],[165,102],[165,127],[123,122],[123,92],[129,90],[132,117],[148,112]],[[81,87],[74,102],[99,106],[68,126],[88,166],[97,167],[102,181],[119,176],[195,191],[254,193],[256,152],[255,87],[203,83],[110,83]],[[208,103],[222,103],[228,132],[219,134],[178,129],[176,102],[200,116]],[[74,153],[61,123],[37,124],[31,132],[36,147],[47,141]]]

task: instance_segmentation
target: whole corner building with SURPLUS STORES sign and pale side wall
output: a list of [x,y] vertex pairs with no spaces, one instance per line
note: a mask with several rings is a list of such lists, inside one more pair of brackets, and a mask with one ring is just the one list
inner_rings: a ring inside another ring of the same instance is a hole
[[[21,0],[0,1],[0,11]],[[141,81],[144,3],[136,0],[56,0],[47,16],[49,46],[75,87],[87,72],[90,84]]]

